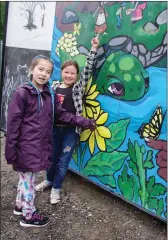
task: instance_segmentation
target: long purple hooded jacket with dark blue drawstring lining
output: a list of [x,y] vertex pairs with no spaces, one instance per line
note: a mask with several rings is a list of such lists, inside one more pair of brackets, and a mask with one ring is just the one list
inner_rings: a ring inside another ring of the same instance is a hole
[[[60,120],[93,128],[93,121],[62,109],[55,98],[55,112]],[[38,172],[51,165],[53,107],[46,85],[37,90],[24,84],[13,94],[8,109],[5,157],[15,171]]]

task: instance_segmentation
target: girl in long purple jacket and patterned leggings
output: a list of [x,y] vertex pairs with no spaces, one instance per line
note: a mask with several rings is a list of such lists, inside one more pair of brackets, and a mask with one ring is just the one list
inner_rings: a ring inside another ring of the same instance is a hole
[[49,218],[39,214],[34,206],[35,178],[37,172],[51,166],[53,112],[60,121],[91,130],[95,122],[66,112],[56,97],[51,97],[48,80],[52,61],[37,56],[30,70],[32,81],[18,87],[9,104],[5,157],[19,172],[14,214],[21,215],[21,226],[43,227]]

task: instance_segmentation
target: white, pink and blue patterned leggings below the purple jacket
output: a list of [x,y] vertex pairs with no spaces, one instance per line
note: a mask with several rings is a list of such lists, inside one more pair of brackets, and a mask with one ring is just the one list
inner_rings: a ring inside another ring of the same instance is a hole
[[31,218],[36,210],[34,206],[36,173],[19,173],[16,206],[22,208],[23,216]]

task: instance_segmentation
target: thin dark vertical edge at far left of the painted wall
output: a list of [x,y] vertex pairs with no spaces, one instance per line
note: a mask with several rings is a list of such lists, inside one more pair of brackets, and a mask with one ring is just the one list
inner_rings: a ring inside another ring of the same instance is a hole
[[[2,48],[2,64],[1,64],[1,75],[0,75],[0,119],[1,119],[1,113],[2,113],[2,90],[3,90],[3,83],[4,83],[4,70],[5,70],[5,47],[6,47],[6,33],[7,33],[7,22],[8,22],[8,8],[9,8],[9,1],[5,4],[5,27],[4,27],[4,39],[3,39],[3,48]],[[4,132],[3,129],[0,130]]]

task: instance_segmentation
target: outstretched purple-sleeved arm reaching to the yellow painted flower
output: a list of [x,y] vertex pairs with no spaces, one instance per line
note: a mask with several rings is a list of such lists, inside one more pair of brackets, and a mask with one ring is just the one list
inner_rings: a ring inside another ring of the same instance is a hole
[[95,120],[84,118],[81,116],[73,115],[62,108],[61,103],[55,98],[55,115],[60,121],[64,121],[68,124],[76,125],[82,128],[90,128],[93,131],[96,127]]

